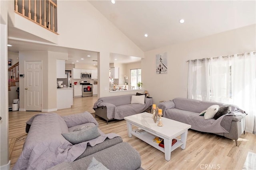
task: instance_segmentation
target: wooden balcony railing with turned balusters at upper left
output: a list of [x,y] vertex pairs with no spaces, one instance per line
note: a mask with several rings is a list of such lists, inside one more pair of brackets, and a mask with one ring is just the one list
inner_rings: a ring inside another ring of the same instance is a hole
[[14,0],[14,11],[57,33],[57,0]]

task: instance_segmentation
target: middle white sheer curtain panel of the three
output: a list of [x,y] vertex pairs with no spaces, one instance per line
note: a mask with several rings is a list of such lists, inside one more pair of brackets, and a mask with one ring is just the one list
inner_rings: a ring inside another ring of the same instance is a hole
[[218,57],[210,60],[211,101],[230,102],[230,57]]

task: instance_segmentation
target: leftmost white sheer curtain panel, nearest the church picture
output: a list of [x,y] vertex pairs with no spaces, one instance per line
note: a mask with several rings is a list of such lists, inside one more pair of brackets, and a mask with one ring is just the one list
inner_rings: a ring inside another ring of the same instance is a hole
[[210,100],[209,61],[207,59],[189,61],[188,98]]

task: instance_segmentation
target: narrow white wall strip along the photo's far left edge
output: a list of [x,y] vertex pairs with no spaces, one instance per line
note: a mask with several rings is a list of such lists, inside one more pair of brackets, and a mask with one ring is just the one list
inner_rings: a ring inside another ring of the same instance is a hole
[[8,115],[8,51],[7,51],[7,36],[8,36],[8,1],[0,1],[0,169],[9,170],[9,115]]

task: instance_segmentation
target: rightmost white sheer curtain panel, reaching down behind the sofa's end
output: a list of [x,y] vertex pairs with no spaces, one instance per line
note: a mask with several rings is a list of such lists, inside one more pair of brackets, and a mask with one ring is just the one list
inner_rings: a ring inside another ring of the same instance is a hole
[[232,58],[231,103],[244,109],[246,131],[256,133],[256,57],[255,52],[234,55]]

